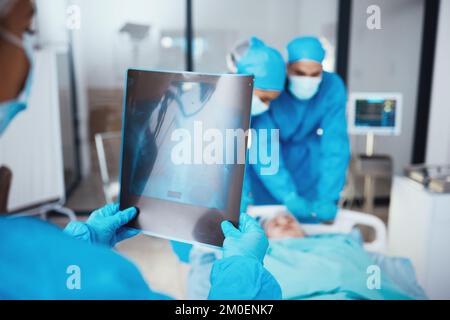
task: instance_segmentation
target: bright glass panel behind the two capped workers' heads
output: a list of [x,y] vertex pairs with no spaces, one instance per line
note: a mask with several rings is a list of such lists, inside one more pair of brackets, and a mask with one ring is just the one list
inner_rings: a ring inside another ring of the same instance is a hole
[[337,8],[338,0],[195,0],[195,69],[226,72],[226,54],[253,35],[282,53],[294,37],[315,35],[327,49],[325,69],[332,71]]

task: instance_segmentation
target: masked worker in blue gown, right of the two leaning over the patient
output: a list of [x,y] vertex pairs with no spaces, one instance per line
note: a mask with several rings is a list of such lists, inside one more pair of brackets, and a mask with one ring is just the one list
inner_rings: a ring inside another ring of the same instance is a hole
[[350,159],[346,89],[335,73],[323,70],[325,50],[315,37],[288,46],[287,84],[268,111],[252,118],[256,129],[279,129],[276,174],[250,166],[248,203],[284,204],[301,222],[333,220]]

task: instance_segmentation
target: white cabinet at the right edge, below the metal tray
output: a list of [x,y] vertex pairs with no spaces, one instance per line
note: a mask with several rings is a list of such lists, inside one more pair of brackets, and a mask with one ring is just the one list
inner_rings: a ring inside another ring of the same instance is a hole
[[388,245],[391,255],[411,259],[431,299],[450,299],[450,194],[395,177]]

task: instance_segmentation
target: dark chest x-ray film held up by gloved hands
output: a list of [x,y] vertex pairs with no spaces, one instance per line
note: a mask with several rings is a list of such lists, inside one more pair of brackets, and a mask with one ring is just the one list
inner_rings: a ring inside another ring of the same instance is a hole
[[229,133],[248,130],[252,90],[251,76],[128,71],[120,206],[139,209],[133,227],[222,245],[220,223],[239,220],[245,165],[245,143]]

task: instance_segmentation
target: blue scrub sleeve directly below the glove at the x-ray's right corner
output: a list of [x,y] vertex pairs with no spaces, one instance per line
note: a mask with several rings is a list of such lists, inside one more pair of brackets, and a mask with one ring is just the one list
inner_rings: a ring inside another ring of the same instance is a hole
[[281,288],[258,260],[233,256],[214,262],[208,299],[281,300]]

